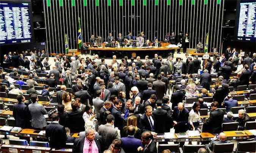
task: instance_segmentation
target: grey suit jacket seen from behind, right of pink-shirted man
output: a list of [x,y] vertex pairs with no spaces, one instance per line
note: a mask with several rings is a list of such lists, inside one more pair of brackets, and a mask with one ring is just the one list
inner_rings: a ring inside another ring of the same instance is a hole
[[120,139],[118,136],[118,131],[110,124],[99,126],[98,133],[102,137],[104,150],[107,150],[107,148],[112,144],[113,140]]

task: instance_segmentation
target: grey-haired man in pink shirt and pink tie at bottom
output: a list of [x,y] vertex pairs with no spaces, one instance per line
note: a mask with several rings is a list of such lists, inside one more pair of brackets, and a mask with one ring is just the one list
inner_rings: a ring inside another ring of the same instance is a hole
[[[86,145],[86,146],[84,146]],[[85,131],[85,136],[79,139],[75,139],[72,152],[73,153],[101,153],[102,140],[100,136],[95,136],[95,131],[93,128],[87,128]]]

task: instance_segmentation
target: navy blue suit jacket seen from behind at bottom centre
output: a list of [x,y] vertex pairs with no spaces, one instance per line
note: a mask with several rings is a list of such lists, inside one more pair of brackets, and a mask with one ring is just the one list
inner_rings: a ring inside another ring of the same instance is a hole
[[135,153],[138,147],[142,147],[141,140],[134,138],[134,136],[121,138],[121,141],[123,142],[122,148],[126,153]]

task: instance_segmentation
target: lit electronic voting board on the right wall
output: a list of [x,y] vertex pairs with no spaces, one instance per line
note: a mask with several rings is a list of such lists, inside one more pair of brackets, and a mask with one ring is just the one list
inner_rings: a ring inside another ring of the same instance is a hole
[[237,9],[237,40],[256,40],[256,2],[239,3]]

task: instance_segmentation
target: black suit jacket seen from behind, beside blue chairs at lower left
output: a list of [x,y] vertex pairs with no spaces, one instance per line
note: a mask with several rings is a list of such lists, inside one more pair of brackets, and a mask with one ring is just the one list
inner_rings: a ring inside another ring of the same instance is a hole
[[67,134],[65,127],[52,122],[46,126],[46,138],[50,138],[49,145],[51,148],[61,149],[66,146]]

